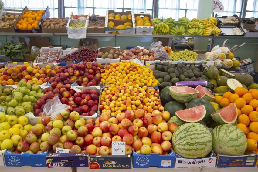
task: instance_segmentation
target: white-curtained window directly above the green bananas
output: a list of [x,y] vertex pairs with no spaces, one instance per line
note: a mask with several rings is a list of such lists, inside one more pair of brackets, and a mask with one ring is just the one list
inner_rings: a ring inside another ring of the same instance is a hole
[[158,17],[178,19],[187,17],[190,20],[197,17],[199,0],[159,0]]

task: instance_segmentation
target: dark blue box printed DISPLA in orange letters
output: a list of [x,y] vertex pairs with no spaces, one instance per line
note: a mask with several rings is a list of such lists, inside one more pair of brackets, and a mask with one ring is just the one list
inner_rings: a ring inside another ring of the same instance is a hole
[[218,153],[216,167],[255,167],[257,156],[258,154],[255,152],[242,156],[228,156]]

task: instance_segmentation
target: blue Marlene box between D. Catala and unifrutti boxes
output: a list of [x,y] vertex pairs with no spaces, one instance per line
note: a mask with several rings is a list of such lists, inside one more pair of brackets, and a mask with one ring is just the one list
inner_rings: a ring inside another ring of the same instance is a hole
[[171,152],[168,155],[159,155],[151,153],[142,155],[133,151],[133,167],[134,168],[174,168],[175,153]]

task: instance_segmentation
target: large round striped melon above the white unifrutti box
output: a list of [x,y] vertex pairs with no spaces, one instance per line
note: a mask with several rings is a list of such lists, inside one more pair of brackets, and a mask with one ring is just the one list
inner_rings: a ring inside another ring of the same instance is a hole
[[173,133],[172,145],[184,158],[205,157],[212,149],[212,135],[202,124],[185,123]]

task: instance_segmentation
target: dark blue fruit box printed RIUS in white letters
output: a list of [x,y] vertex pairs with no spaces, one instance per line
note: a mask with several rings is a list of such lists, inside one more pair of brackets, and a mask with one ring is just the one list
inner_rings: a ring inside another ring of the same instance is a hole
[[53,153],[47,154],[45,161],[52,167],[89,167],[88,153]]

